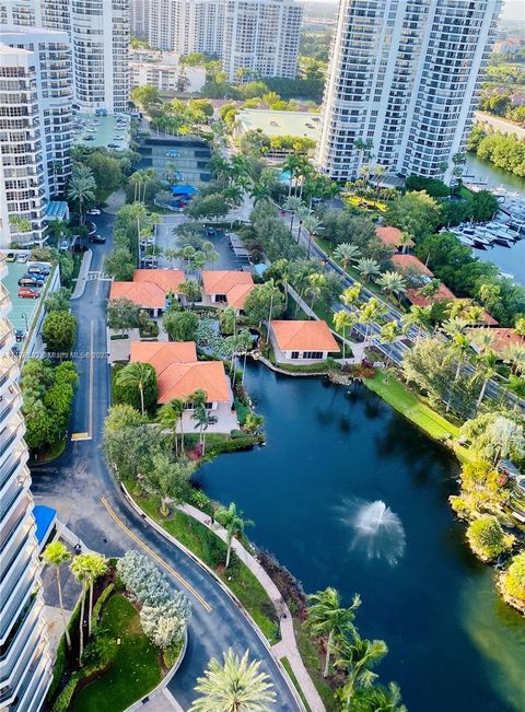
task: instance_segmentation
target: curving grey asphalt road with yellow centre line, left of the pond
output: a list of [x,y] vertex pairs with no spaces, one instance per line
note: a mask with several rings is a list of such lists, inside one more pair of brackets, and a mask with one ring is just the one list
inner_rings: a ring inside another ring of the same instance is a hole
[[[95,219],[106,245],[93,246],[91,271],[100,272],[103,256],[112,248],[114,218]],[[164,568],[174,585],[192,604],[189,644],[184,663],[170,690],[183,709],[195,698],[196,678],[210,657],[221,657],[228,647],[238,653],[249,650],[262,661],[277,692],[276,710],[299,707],[281,676],[268,647],[235,603],[190,557],[151,529],[127,504],[108,472],[101,451],[104,418],[109,406],[109,367],[105,358],[105,303],[109,282],[90,280],[84,295],[72,302],[79,319],[75,362],[80,383],[70,422],[70,434],[84,433],[89,440],[70,441],[66,453],[47,466],[32,467],[33,493],[38,503],[54,506],[58,517],[88,547],[107,557],[138,549],[152,556]]]

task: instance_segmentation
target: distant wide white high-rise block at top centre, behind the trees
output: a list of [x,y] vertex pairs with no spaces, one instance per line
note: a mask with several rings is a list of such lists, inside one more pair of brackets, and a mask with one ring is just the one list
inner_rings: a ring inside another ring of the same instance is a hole
[[178,55],[221,57],[237,69],[294,78],[303,8],[294,0],[130,0],[131,34]]

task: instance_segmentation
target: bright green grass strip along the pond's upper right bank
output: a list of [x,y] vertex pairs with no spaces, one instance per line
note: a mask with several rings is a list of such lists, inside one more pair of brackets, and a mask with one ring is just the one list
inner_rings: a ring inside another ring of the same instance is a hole
[[[416,423],[421,430],[435,440],[456,440],[459,435],[459,428],[451,423],[446,418],[432,410],[418,396],[408,390],[400,381],[392,374],[385,378],[384,371],[378,370],[374,378],[366,378],[366,386],[386,400],[393,408],[402,413],[406,418]],[[469,451],[459,445],[455,446],[455,453],[462,462],[472,459]]]

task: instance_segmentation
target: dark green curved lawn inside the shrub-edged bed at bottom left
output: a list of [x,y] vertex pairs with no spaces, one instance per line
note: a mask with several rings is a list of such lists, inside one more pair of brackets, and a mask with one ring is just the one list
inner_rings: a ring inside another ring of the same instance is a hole
[[108,672],[73,698],[73,712],[121,712],[161,681],[159,650],[148,640],[139,614],[121,595],[109,599],[101,627],[120,639]]

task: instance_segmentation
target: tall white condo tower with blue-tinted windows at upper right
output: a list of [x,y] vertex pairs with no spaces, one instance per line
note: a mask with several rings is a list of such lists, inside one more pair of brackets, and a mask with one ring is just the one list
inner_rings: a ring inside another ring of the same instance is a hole
[[346,180],[361,164],[378,163],[404,176],[450,179],[453,157],[465,150],[500,9],[501,0],[341,0],[325,86],[322,171]]

